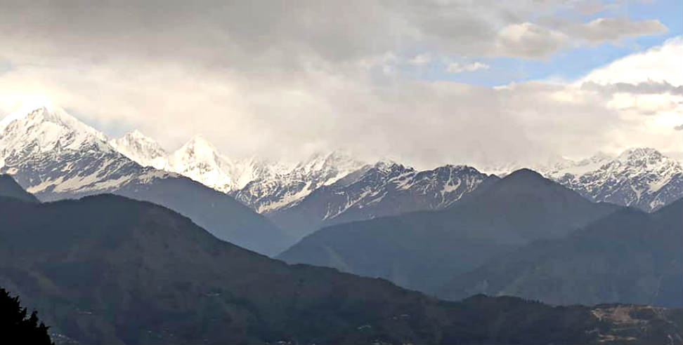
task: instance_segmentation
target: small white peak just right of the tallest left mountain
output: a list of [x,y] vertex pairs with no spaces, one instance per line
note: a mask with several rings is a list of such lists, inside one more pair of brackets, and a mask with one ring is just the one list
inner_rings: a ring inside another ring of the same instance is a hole
[[167,167],[167,153],[160,144],[152,138],[143,135],[138,130],[109,141],[117,151],[142,166],[156,169]]

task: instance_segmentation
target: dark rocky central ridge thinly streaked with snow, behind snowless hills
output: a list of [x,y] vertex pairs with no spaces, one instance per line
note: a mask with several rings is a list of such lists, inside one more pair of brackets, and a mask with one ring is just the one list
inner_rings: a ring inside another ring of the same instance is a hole
[[320,187],[299,203],[270,212],[268,217],[301,238],[321,226],[416,210],[442,210],[488,178],[497,180],[464,165],[417,171],[395,162],[379,162]]

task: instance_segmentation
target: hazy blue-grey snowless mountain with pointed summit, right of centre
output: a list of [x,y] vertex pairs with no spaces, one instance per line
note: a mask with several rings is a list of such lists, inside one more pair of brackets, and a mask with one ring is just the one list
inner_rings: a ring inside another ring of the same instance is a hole
[[329,226],[278,257],[432,292],[449,276],[530,241],[564,236],[616,208],[519,170],[447,210]]

